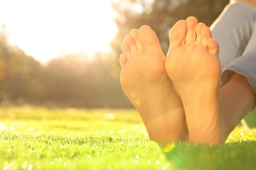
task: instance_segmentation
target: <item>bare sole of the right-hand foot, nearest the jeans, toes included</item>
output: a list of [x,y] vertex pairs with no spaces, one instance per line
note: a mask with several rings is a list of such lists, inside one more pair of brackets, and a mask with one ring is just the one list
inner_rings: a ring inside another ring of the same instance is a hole
[[189,140],[223,143],[219,44],[209,27],[194,17],[177,22],[170,41],[165,68],[181,95]]

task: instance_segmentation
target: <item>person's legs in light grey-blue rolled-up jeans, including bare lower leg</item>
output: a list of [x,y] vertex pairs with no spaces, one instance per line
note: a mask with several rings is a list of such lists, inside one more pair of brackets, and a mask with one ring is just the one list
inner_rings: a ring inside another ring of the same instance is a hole
[[228,5],[211,26],[220,44],[221,88],[227,132],[255,106],[256,10],[246,3]]

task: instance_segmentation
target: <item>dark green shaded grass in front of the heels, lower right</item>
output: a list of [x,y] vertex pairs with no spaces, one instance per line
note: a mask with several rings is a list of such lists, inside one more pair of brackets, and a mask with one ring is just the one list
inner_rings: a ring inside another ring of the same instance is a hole
[[165,156],[173,169],[254,169],[256,141],[226,144],[175,143]]

